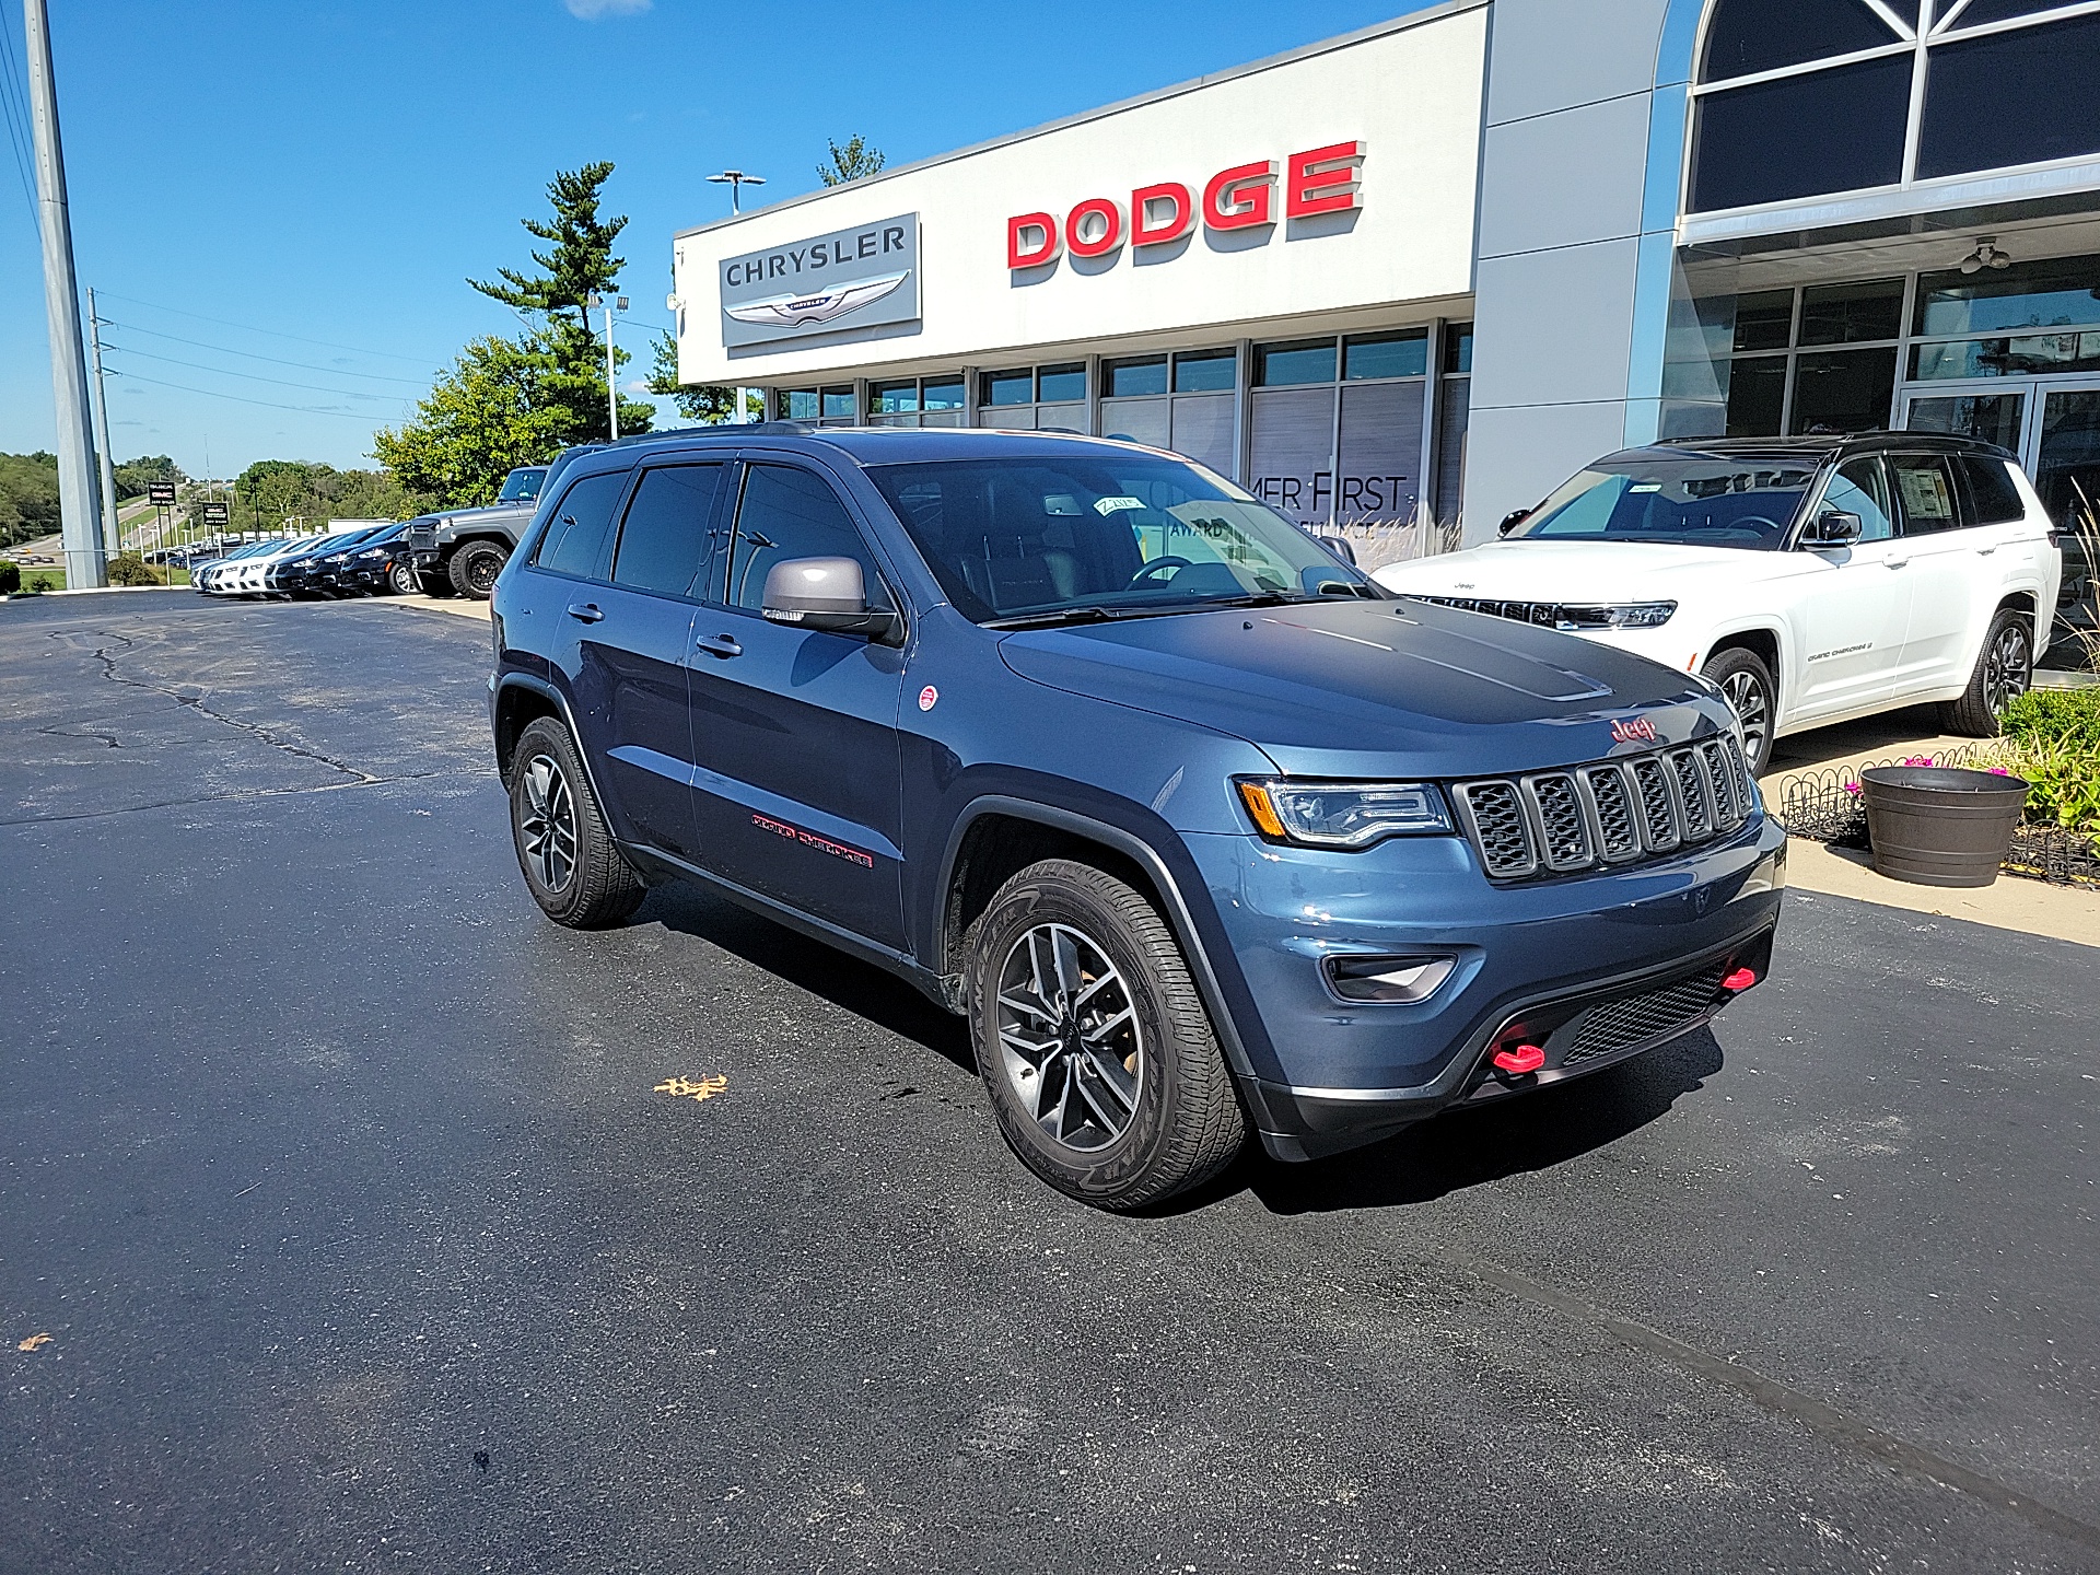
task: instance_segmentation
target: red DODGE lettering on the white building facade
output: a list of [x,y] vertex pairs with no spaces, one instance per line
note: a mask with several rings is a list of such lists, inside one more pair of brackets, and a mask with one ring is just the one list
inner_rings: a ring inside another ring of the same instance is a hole
[[[1329,143],[1287,160],[1233,164],[1203,183],[1201,197],[1180,181],[1136,187],[1130,200],[1086,197],[1063,214],[1014,214],[1006,220],[1006,267],[1040,269],[1069,252],[1111,256],[1124,246],[1166,246],[1201,223],[1205,229],[1266,229],[1277,218],[1317,218],[1363,206],[1357,174],[1363,143]],[[1279,191],[1281,187],[1281,191]],[[1281,197],[1281,202],[1279,202]]]

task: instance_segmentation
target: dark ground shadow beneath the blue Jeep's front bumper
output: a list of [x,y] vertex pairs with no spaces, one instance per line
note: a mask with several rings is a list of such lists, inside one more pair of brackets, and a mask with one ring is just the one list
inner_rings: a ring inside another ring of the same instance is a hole
[[1617,1142],[1667,1113],[1680,1096],[1703,1088],[1720,1067],[1720,1042],[1712,1029],[1699,1029],[1562,1088],[1451,1111],[1334,1159],[1283,1166],[1250,1149],[1216,1184],[1176,1203],[1203,1208],[1241,1189],[1252,1191],[1270,1214],[1428,1203],[1504,1176],[1550,1170]]

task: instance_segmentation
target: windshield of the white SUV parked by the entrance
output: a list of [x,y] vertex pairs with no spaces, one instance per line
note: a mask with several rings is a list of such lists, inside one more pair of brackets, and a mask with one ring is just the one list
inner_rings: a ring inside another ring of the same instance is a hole
[[1579,472],[1514,538],[1779,548],[1814,464],[1714,456],[1602,462]]

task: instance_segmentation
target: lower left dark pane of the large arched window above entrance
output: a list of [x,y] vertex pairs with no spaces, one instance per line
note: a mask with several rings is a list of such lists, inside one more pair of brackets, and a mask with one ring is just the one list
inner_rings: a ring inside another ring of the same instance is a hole
[[1909,55],[1707,94],[1693,212],[1894,185],[1909,113]]

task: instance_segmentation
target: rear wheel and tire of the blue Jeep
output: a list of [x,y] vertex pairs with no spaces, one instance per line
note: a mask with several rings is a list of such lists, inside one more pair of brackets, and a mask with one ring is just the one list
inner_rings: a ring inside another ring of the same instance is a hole
[[613,844],[569,729],[527,722],[510,766],[510,846],[540,911],[571,930],[620,924],[647,886]]

